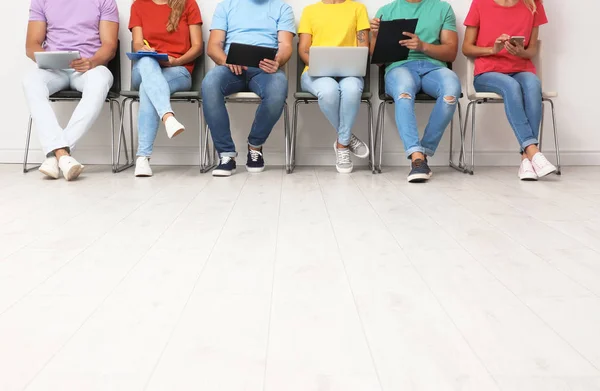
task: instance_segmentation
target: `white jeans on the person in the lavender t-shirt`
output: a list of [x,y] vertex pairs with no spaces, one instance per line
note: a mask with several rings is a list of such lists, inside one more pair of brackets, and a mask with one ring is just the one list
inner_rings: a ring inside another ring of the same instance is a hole
[[[72,149],[92,127],[102,110],[113,76],[104,66],[85,73],[73,70],[36,69],[23,80],[25,99],[35,122],[46,156],[60,148]],[[50,95],[67,89],[81,92],[83,97],[66,128],[61,128],[50,105]]]

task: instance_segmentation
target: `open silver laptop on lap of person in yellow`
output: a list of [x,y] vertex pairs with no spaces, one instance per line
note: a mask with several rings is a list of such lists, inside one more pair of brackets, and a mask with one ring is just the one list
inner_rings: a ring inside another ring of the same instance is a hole
[[364,77],[369,48],[311,46],[308,75],[311,77]]

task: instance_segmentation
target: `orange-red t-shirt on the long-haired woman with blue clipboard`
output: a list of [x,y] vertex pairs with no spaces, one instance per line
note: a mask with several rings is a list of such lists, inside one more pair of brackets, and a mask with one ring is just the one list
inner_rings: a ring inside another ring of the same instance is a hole
[[[152,0],[135,0],[131,6],[129,29],[141,27],[144,39],[157,52],[179,58],[192,47],[190,25],[202,24],[202,16],[196,0],[187,0],[177,30],[169,33],[167,32],[169,15],[171,15],[171,7],[168,4],[156,4]],[[186,64],[185,67],[191,74],[194,63]]]

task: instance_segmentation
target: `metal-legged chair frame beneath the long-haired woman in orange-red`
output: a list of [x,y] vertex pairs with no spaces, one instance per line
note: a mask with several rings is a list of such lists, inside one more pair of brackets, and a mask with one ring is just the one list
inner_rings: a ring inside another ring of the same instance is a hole
[[[133,43],[132,43],[132,47],[133,47]],[[203,47],[205,48],[206,46],[203,45]],[[131,71],[133,72],[133,66],[134,66],[134,62],[131,61]],[[200,83],[200,85],[197,86],[192,86],[192,88],[196,87],[198,88],[198,91],[195,90],[191,90],[191,91],[181,91],[181,93],[185,93],[185,92],[199,92],[198,97],[178,97],[178,96],[171,96],[171,102],[188,102],[188,103],[196,103],[197,104],[197,110],[198,110],[198,114],[197,114],[197,118],[198,118],[198,149],[199,149],[199,156],[200,156],[200,172],[201,173],[206,173],[208,171],[210,171],[211,169],[213,169],[214,167],[216,167],[216,154],[213,151],[212,155],[209,153],[209,148],[210,148],[210,140],[208,137],[208,128],[204,127],[204,116],[202,114],[202,93],[200,90],[200,86],[201,86],[201,80],[204,79],[205,76],[205,50],[202,51],[202,54],[196,59],[195,62],[195,69],[194,72],[192,74],[192,83],[198,84]],[[197,72],[200,72],[200,77],[197,75]],[[138,92],[137,90],[133,90],[131,89],[131,84],[130,84],[130,90],[124,93],[130,94],[131,92]],[[131,161],[127,161],[127,163],[122,167],[120,171],[124,171],[130,167],[135,166],[135,150],[134,150],[134,134],[133,134],[133,105],[134,103],[138,103],[139,104],[140,98],[139,98],[139,94],[137,96],[125,96],[125,98],[123,99],[122,102],[122,112],[121,112],[121,135],[124,137],[125,132],[124,132],[124,120],[125,120],[125,110],[129,110],[129,134],[130,134],[130,138],[131,138],[131,156],[132,159]],[[127,107],[129,105],[129,107]],[[121,151],[121,138],[119,138],[119,143],[118,143],[118,151]],[[123,140],[123,144],[124,144],[124,148],[125,148],[125,155],[127,158],[127,143],[125,142],[125,140]],[[117,157],[117,163],[118,163],[118,157]]]

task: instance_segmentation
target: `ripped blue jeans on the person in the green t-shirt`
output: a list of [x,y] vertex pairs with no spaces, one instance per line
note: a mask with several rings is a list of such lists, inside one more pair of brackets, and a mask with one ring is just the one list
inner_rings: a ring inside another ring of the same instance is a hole
[[[414,101],[420,91],[437,100],[422,140],[419,140]],[[406,156],[410,158],[415,152],[433,156],[460,97],[460,80],[456,73],[429,61],[410,61],[387,72],[385,92],[396,104],[396,125]]]

